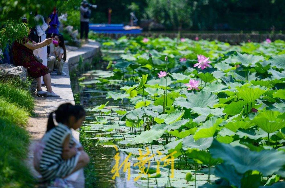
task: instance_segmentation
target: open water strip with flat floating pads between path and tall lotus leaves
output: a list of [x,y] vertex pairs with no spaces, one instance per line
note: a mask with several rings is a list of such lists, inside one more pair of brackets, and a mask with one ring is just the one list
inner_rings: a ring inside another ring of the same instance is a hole
[[[198,187],[207,182],[208,175],[204,173],[197,173],[196,186],[193,181],[187,182],[185,175],[188,172],[193,173],[192,170],[186,166],[186,162],[183,159],[175,159],[175,176],[169,178],[170,165],[166,167],[160,167],[161,177],[139,179],[134,181],[134,178],[139,174],[139,169],[133,167],[133,164],[138,161],[139,149],[144,153],[146,152],[147,145],[135,146],[128,144],[129,140],[139,134],[139,131],[134,128],[125,125],[125,122],[119,121],[120,116],[117,113],[99,113],[92,109],[98,105],[102,105],[108,102],[105,110],[119,109],[130,110],[128,100],[113,100],[112,98],[106,99],[108,91],[119,92],[122,87],[121,80],[111,80],[109,77],[113,75],[113,72],[107,70],[108,61],[104,59],[115,61],[119,59],[119,55],[123,51],[108,50],[103,51],[103,60],[100,61],[94,70],[87,71],[79,76],[84,78],[79,82],[80,88],[80,104],[87,110],[86,123],[80,131],[80,141],[84,146],[84,149],[89,154],[91,161],[85,170],[86,175],[86,187],[171,187],[170,182],[175,184],[175,187]],[[123,104],[127,104],[124,106]],[[131,109],[133,107],[131,106]],[[97,119],[98,118],[98,119]],[[101,119],[105,119],[105,122],[98,124]],[[118,126],[120,125],[120,126]],[[114,129],[110,129],[112,126],[117,126]],[[118,129],[119,128],[119,129]],[[154,151],[160,151],[165,156],[167,152],[164,150],[162,142],[165,139],[158,139],[158,142],[152,145]],[[114,156],[117,151],[114,147],[116,145],[119,148],[119,164],[122,164],[129,153],[132,153],[129,158],[131,163],[130,179],[128,180],[128,173],[123,172],[123,167],[119,171],[119,177],[112,179],[113,173],[111,170],[115,165]],[[160,158],[162,158],[160,156]],[[160,159],[159,157],[156,159]],[[151,167],[154,169],[157,167],[154,159],[150,159]],[[142,176],[146,177],[146,176]],[[211,177],[211,180],[217,178]]]

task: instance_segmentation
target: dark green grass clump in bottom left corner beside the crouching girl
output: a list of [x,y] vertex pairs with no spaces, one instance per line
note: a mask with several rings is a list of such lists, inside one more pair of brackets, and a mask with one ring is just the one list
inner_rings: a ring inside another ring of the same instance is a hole
[[0,187],[33,187],[33,177],[23,162],[28,153],[28,132],[2,116],[0,140]]

